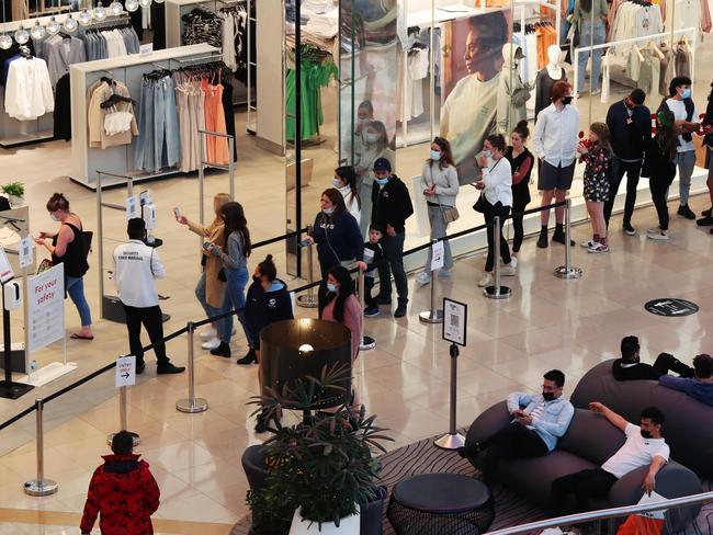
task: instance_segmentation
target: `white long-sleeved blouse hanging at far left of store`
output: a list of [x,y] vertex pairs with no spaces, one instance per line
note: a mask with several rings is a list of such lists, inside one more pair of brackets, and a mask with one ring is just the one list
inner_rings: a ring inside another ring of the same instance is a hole
[[20,57],[11,61],[5,82],[5,113],[19,121],[34,121],[54,109],[45,60]]

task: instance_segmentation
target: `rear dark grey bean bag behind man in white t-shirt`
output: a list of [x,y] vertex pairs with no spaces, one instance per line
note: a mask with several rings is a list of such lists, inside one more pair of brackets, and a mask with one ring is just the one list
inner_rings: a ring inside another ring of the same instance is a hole
[[612,362],[597,364],[585,374],[571,403],[586,409],[591,401],[601,401],[631,422],[638,421],[646,407],[658,407],[666,416],[664,436],[671,457],[702,478],[713,479],[713,407],[655,380],[619,382],[611,373]]

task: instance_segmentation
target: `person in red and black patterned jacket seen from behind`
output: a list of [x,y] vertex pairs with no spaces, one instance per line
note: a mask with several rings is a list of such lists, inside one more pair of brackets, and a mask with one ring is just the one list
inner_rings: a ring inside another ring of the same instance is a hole
[[159,504],[160,491],[146,460],[134,455],[134,441],[129,433],[121,431],[112,440],[114,455],[104,455],[104,464],[94,470],[81,533],[90,533],[97,515],[101,513],[99,527],[102,535],[151,535],[151,514]]

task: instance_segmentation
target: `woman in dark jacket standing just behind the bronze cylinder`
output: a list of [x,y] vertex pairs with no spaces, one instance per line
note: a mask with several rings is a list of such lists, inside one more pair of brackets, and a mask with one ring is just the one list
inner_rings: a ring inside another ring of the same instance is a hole
[[[254,355],[250,362],[240,360],[238,364],[258,363],[258,382],[262,392],[262,373],[260,368],[260,332],[268,326],[278,321],[293,319],[292,299],[287,285],[278,278],[278,268],[272,261],[272,254],[268,254],[260,262],[252,274],[252,284],[248,288],[245,306],[245,325],[253,342]],[[254,428],[257,433],[264,433],[268,430],[265,413],[258,416]]]

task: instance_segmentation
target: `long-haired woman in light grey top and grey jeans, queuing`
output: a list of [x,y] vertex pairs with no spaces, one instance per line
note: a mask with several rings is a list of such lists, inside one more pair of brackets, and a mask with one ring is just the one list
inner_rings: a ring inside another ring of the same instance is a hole
[[[428,205],[431,240],[443,238],[449,225],[443,217],[443,212],[455,206],[455,196],[460,189],[451,144],[443,137],[434,138],[431,144],[431,153],[421,170],[421,187]],[[448,241],[443,243],[443,268],[439,270],[439,276],[448,277],[451,276],[451,268],[453,268],[453,255]],[[423,273],[416,277],[421,285],[431,282],[431,254],[432,251],[429,249]]]

